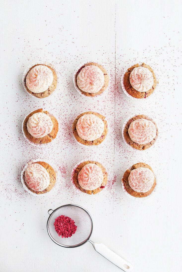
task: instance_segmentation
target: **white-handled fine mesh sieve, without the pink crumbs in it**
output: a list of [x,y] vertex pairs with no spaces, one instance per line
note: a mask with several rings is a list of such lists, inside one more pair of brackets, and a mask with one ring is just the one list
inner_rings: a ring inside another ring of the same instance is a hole
[[[133,270],[133,265],[116,252],[112,251],[112,249],[108,248],[102,243],[97,243],[90,240],[93,231],[93,220],[89,212],[84,208],[74,204],[67,204],[55,210],[50,209],[48,213],[49,218],[47,220],[47,232],[53,242],[55,242],[57,245],[66,248],[74,248],[81,246],[86,242],[90,242],[99,254],[104,256],[113,264],[117,265],[123,271],[131,272]],[[62,238],[61,236],[58,236],[55,230],[55,219],[61,215],[70,217],[72,220],[74,220],[75,225],[77,226],[76,232],[71,237]]]

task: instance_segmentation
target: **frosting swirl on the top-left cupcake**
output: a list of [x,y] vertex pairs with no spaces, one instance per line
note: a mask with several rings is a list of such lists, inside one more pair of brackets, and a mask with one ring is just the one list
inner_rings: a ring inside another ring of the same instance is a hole
[[46,91],[53,82],[53,73],[45,65],[37,65],[26,76],[26,86],[35,94]]

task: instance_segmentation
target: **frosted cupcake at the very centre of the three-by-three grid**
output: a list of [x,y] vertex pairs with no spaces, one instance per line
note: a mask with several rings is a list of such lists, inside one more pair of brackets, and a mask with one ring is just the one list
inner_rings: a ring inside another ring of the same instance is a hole
[[74,120],[72,132],[79,144],[97,146],[106,138],[108,123],[99,113],[83,112]]

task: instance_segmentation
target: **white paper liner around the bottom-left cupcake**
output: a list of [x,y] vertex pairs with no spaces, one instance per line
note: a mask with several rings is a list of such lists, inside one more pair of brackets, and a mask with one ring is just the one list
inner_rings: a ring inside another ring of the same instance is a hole
[[58,170],[57,170],[56,166],[53,165],[52,162],[47,162],[47,161],[46,161],[50,166],[52,166],[52,168],[54,169],[54,171],[55,171],[55,173],[56,173],[56,182],[55,182],[55,185],[54,185],[54,187],[52,188],[52,190],[50,190],[49,192],[44,193],[44,194],[36,194],[36,193],[33,193],[32,191],[30,191],[30,190],[28,189],[28,187],[26,187],[26,185],[25,185],[25,183],[24,183],[24,180],[23,180],[23,174],[24,174],[26,168],[27,168],[29,165],[31,165],[32,163],[34,163],[34,162],[44,162],[44,160],[42,160],[42,159],[36,159],[36,160],[31,160],[30,162],[28,162],[28,163],[25,165],[25,167],[23,168],[22,172],[21,172],[21,182],[22,182],[23,188],[24,188],[29,194],[32,194],[33,196],[41,197],[41,196],[44,196],[44,195],[49,194],[50,192],[52,192],[52,190],[55,190],[55,188],[56,188],[56,186],[57,186],[57,183],[58,183]]

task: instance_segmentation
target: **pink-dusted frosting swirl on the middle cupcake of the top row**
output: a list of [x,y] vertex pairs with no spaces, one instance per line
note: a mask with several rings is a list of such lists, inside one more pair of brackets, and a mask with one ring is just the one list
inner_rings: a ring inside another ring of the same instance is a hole
[[104,74],[95,65],[85,66],[77,75],[77,84],[84,92],[99,92],[104,85]]

